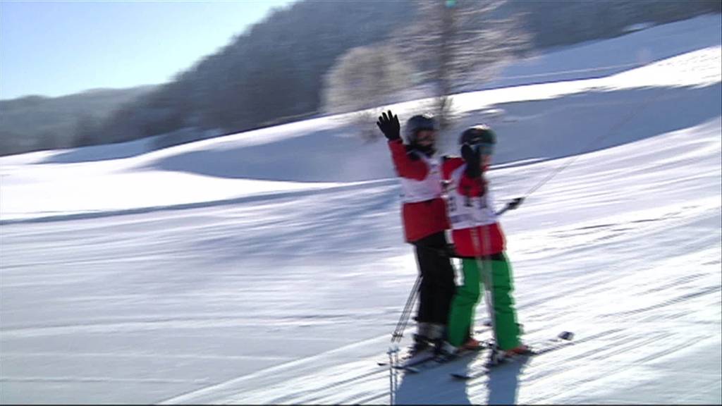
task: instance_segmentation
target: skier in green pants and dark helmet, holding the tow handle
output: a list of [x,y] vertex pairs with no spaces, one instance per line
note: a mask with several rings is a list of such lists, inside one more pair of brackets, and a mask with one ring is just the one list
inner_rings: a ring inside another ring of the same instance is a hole
[[[482,298],[482,284],[492,308],[496,344],[505,353],[526,353],[520,340],[514,308],[513,276],[505,254],[505,238],[493,207],[484,173],[491,162],[496,137],[488,126],[466,129],[459,143],[461,158],[447,158],[442,165],[448,183],[447,210],[456,253],[462,259],[464,283],[451,302],[447,341],[442,357],[453,357],[462,347],[478,347],[470,332],[474,309]],[[521,203],[517,200],[513,207]]]

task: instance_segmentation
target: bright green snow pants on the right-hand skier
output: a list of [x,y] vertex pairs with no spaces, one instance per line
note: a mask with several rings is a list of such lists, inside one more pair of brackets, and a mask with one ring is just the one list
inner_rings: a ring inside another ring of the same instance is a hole
[[[482,298],[480,287],[485,278],[482,272],[492,272],[492,297],[494,303],[497,345],[502,350],[510,350],[520,344],[519,327],[516,323],[514,299],[511,297],[513,282],[511,267],[506,254],[486,257],[481,260],[474,258],[462,259],[464,285],[456,288],[451,301],[448,321],[448,342],[458,347],[474,327],[474,308]],[[479,269],[482,267],[482,269]]]

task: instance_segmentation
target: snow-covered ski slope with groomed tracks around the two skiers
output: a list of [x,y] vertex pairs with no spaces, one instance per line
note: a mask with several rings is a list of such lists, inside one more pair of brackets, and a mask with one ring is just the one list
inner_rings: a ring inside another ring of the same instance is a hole
[[570,164],[503,226],[525,340],[577,337],[466,383],[375,365],[416,264],[385,144],[342,118],[1,158],[0,402],[721,403],[720,26],[560,51],[667,52],[611,76],[456,97],[459,128],[505,111],[501,202]]

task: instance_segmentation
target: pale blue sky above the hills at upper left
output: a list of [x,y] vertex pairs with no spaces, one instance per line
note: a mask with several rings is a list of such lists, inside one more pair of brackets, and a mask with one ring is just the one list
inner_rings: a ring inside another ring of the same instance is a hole
[[0,0],[0,98],[168,82],[294,0]]

